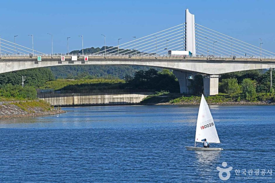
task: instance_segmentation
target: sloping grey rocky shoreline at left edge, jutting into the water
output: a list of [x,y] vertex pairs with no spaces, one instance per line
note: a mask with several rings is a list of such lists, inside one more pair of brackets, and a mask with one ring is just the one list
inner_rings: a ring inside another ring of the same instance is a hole
[[42,107],[28,107],[26,111],[15,104],[0,105],[0,119],[46,116],[53,114],[61,114],[64,112],[66,111],[54,108],[51,108],[48,111],[46,111]]

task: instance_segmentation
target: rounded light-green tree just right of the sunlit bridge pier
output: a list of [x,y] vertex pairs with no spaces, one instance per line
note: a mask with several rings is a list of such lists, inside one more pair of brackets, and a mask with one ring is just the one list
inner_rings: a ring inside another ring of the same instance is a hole
[[227,94],[240,92],[240,88],[236,78],[222,79],[219,89],[221,90],[221,92]]

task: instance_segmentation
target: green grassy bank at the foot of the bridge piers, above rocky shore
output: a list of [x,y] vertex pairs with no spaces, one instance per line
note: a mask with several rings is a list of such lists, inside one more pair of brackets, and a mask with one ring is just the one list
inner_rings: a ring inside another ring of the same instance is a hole
[[[245,100],[245,94],[221,94],[205,97],[205,99],[208,103],[238,104],[238,102],[249,102],[257,104],[258,102],[273,103],[275,102],[275,95],[274,93],[258,93],[255,100]],[[183,96],[179,93],[159,92],[146,97],[141,104],[199,104],[200,100],[201,96]]]

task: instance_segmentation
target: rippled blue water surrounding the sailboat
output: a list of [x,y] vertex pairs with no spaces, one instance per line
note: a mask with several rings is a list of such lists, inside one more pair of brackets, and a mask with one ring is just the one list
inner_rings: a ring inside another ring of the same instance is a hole
[[275,181],[261,176],[275,170],[275,106],[211,106],[222,142],[213,145],[224,149],[215,152],[184,147],[194,144],[198,106],[63,109],[0,120],[0,182],[221,182],[224,161],[231,182]]

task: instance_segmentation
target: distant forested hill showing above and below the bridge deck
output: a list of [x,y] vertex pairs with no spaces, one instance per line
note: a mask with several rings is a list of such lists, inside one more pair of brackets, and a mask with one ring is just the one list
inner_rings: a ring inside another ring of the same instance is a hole
[[[106,46],[106,49],[109,49],[110,53],[114,53],[117,47]],[[104,46],[102,48],[85,48],[83,49],[84,53],[97,53],[99,51],[103,51]],[[135,50],[124,50],[119,49],[120,53],[128,52],[129,54],[135,53]],[[73,50],[70,54],[82,54],[82,50]],[[137,51],[137,53],[141,53]],[[98,75],[98,76],[106,76],[108,74],[118,76],[118,78],[123,79],[125,75],[133,76],[133,74],[138,70],[148,70],[149,68],[154,68],[158,71],[161,71],[161,68],[156,67],[145,67],[145,66],[126,66],[126,65],[64,65],[64,66],[54,66],[49,67],[54,74],[55,78],[66,78],[68,74],[76,76],[82,72],[88,72],[90,75]]]

